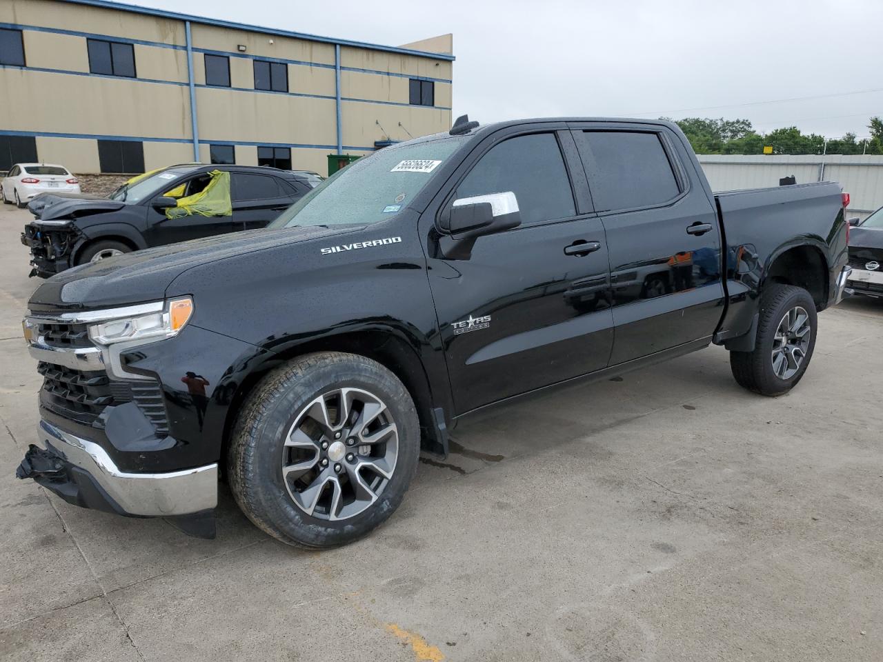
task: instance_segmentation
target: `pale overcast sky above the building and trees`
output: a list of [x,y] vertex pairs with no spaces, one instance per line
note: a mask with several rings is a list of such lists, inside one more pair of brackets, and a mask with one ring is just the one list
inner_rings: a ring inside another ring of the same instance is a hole
[[389,45],[451,32],[455,117],[482,123],[744,117],[833,138],[883,116],[881,0],[135,4]]

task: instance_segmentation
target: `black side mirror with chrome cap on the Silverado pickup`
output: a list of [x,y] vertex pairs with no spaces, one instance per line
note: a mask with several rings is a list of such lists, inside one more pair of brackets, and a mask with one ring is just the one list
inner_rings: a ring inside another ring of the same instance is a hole
[[451,260],[468,260],[475,240],[521,224],[515,193],[488,193],[454,200],[439,226],[442,253]]

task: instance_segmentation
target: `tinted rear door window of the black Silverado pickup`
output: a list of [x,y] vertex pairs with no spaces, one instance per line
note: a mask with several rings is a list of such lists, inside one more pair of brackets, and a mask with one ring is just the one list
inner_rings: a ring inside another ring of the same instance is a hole
[[597,211],[659,205],[680,192],[656,133],[579,132],[577,146]]

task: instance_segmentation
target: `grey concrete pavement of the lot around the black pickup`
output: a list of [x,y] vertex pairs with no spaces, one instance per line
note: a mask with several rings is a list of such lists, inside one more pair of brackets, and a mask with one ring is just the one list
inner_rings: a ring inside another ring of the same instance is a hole
[[883,302],[824,312],[778,399],[711,348],[480,414],[389,523],[307,553],[226,488],[197,540],[14,478],[27,219],[0,209],[0,659],[883,659]]

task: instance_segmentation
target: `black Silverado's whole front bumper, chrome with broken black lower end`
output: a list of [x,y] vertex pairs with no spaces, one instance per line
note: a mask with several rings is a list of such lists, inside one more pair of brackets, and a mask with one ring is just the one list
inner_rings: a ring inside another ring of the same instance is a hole
[[192,515],[217,506],[217,463],[163,473],[126,472],[98,444],[45,420],[16,474],[34,478],[77,506],[117,515]]

